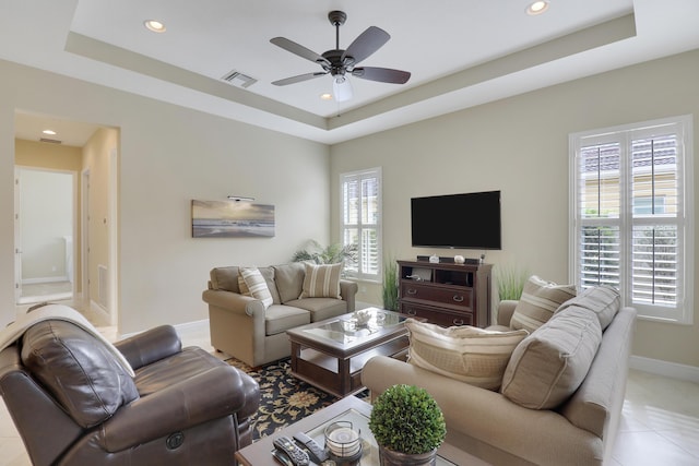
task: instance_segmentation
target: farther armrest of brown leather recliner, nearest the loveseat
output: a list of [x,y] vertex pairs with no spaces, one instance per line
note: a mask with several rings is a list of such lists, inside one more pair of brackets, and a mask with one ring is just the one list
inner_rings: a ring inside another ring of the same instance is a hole
[[114,344],[135,370],[182,350],[171,325],[161,325]]

